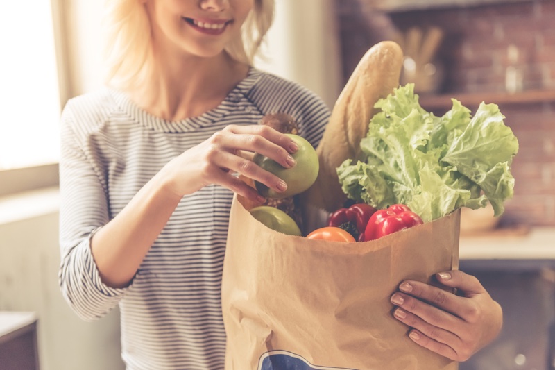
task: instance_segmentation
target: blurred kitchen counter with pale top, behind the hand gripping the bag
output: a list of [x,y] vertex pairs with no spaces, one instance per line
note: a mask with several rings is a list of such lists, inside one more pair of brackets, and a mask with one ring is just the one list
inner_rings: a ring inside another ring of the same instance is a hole
[[503,308],[502,332],[459,370],[555,369],[555,228],[460,239],[460,269]]

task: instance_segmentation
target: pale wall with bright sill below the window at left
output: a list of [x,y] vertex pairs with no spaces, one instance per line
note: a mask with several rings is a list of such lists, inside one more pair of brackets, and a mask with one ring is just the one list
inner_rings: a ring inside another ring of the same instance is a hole
[[87,323],[62,297],[56,204],[56,190],[0,198],[0,310],[37,314],[42,370],[123,369],[118,312]]

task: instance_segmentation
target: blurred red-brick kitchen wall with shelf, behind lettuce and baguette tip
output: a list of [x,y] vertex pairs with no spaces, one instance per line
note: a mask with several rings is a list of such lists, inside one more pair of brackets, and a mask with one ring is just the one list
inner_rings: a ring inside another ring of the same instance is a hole
[[421,94],[422,106],[439,115],[450,108],[452,96],[473,111],[481,101],[497,103],[520,143],[513,164],[515,197],[502,221],[555,226],[555,1],[412,10],[411,1],[400,3],[377,12],[371,0],[336,2],[343,81],[368,45],[404,40],[405,50],[418,49],[414,44],[427,31],[441,29],[441,44],[429,61],[441,66],[443,78],[436,90]]

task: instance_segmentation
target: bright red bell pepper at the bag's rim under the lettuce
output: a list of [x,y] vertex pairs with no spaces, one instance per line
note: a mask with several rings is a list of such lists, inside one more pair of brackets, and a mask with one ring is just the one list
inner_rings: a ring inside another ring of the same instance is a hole
[[394,204],[386,210],[377,210],[368,220],[364,230],[364,240],[374,240],[395,231],[423,224],[420,216],[407,205]]

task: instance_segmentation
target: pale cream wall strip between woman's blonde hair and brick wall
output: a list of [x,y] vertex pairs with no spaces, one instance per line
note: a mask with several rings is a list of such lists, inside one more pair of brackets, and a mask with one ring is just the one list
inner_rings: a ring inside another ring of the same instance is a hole
[[341,92],[339,33],[332,0],[276,0],[275,21],[255,65],[307,87],[333,108]]

